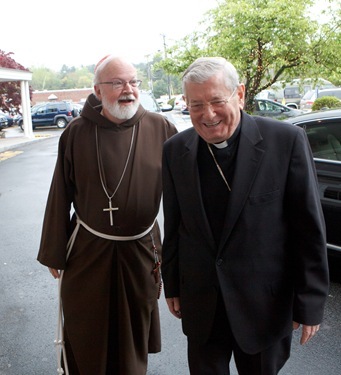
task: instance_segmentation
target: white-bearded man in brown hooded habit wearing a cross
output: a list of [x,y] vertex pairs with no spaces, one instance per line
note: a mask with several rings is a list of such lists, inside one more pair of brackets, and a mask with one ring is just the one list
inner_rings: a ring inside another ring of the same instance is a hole
[[140,83],[129,62],[102,59],[95,95],[60,138],[38,260],[61,284],[66,374],[142,375],[161,350],[156,216],[162,147],[177,131],[139,104]]

